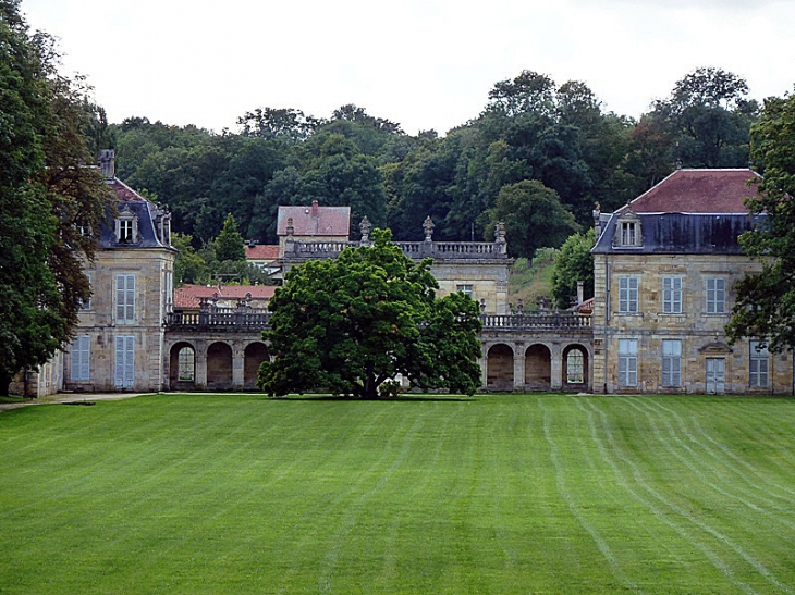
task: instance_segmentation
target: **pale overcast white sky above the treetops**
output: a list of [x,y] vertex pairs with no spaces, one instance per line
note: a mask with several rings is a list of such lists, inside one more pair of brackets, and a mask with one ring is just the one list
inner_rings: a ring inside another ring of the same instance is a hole
[[523,70],[638,117],[699,66],[795,84],[792,0],[22,0],[110,122],[237,132],[257,108],[355,103],[408,134],[477,117]]

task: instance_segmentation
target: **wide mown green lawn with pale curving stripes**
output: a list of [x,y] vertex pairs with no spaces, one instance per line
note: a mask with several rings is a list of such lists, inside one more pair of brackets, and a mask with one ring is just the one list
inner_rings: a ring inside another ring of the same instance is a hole
[[795,592],[795,400],[0,413],[0,593]]

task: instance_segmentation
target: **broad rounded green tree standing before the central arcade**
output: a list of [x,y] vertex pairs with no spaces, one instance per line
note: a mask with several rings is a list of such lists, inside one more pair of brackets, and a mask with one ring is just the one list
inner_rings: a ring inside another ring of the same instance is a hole
[[402,374],[423,389],[473,394],[478,305],[463,294],[437,299],[429,268],[375,230],[371,247],[292,269],[269,303],[273,359],[262,363],[259,386],[277,396],[326,389],[377,398]]

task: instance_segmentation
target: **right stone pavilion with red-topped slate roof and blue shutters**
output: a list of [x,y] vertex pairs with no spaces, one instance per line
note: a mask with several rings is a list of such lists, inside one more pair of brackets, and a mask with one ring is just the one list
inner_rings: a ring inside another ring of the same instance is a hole
[[595,212],[594,376],[603,393],[792,393],[793,361],[729,345],[732,287],[759,263],[750,170],[677,170],[616,212]]

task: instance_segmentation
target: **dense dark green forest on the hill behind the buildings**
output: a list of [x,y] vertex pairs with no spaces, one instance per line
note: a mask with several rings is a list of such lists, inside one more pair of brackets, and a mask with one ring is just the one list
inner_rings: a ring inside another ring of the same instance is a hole
[[686,74],[635,120],[606,111],[585,83],[524,71],[498,82],[475,117],[405,134],[354,104],[329,117],[257,108],[215,133],[143,116],[98,131],[118,175],[167,203],[173,227],[200,248],[231,213],[246,240],[274,244],[279,204],[351,206],[394,237],[491,239],[505,222],[514,257],[559,247],[684,168],[747,168],[759,103],[746,82],[714,67]]

